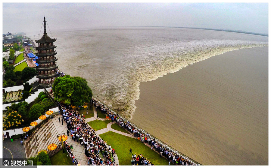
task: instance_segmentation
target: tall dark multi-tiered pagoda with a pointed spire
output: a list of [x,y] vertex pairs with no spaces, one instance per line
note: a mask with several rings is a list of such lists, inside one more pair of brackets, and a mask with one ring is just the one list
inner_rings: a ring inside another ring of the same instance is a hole
[[36,63],[39,65],[36,66],[36,70],[39,72],[37,78],[39,79],[39,87],[48,87],[53,85],[55,78],[58,76],[56,73],[56,69],[58,68],[56,61],[58,60],[55,55],[55,48],[57,46],[54,45],[56,39],[51,39],[46,33],[46,22],[44,16],[44,33],[42,38],[39,40],[35,40],[37,44],[39,44],[36,49],[38,53],[36,53]]

